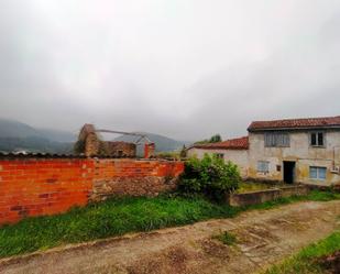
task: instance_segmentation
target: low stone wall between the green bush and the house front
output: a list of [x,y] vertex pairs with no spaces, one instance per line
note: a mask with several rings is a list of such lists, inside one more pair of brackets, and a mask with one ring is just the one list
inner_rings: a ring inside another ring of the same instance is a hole
[[230,206],[241,207],[257,205],[265,201],[275,200],[278,198],[290,197],[290,196],[303,196],[309,193],[307,186],[284,186],[281,188],[273,188],[260,191],[232,194],[228,196],[228,202]]

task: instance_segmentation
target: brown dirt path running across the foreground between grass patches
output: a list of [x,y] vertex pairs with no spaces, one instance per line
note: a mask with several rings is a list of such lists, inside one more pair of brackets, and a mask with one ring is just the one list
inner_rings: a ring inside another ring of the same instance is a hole
[[[255,273],[332,232],[339,216],[340,201],[299,202],[0,260],[0,273]],[[237,245],[211,240],[226,230],[237,234]]]

